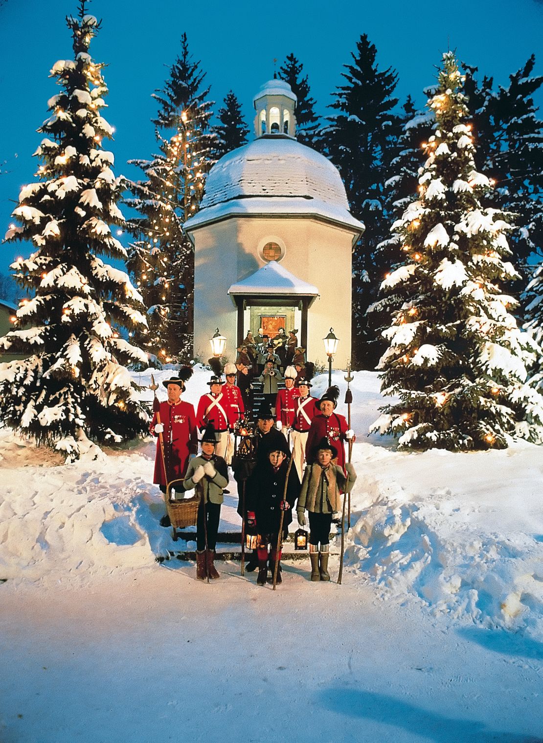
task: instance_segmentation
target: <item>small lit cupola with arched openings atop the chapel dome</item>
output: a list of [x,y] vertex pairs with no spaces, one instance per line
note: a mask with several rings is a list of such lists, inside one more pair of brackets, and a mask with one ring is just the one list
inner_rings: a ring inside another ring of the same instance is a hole
[[284,80],[268,80],[253,98],[256,137],[282,134],[296,137],[296,95]]

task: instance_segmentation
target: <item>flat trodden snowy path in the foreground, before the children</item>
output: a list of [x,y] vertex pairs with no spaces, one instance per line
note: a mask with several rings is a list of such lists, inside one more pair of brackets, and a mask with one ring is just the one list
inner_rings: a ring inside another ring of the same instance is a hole
[[175,567],[0,586],[2,743],[543,741],[542,643],[450,629],[350,571],[287,566],[274,593]]

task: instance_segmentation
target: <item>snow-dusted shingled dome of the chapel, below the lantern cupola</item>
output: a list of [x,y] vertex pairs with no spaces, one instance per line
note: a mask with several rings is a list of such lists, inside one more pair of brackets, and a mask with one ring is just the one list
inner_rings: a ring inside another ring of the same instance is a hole
[[349,208],[345,187],[331,161],[277,134],[259,137],[218,160],[209,171],[201,210],[252,198],[270,198],[275,203],[303,199],[308,212],[313,200],[341,211]]

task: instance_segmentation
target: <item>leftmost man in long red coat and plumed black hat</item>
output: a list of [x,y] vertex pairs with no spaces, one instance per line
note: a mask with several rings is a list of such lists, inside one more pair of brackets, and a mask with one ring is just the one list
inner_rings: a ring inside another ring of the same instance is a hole
[[[178,377],[163,380],[163,386],[168,390],[168,399],[159,403],[158,410],[151,421],[151,435],[158,438],[153,482],[159,485],[162,493],[166,493],[168,482],[183,478],[190,455],[198,451],[194,407],[191,403],[181,400],[185,382],[191,376],[192,369],[186,366],[180,369]],[[160,418],[160,424],[158,418]],[[160,446],[160,433],[162,434],[164,458]],[[166,464],[166,472],[164,464]],[[160,519],[160,525],[169,526],[167,514]]]

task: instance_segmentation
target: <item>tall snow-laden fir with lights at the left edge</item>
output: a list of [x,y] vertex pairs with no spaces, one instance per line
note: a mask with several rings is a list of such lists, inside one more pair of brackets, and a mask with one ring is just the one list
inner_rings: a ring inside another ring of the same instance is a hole
[[0,365],[0,401],[7,426],[77,458],[88,437],[114,443],[147,429],[138,388],[121,365],[146,363],[121,337],[123,327],[134,331],[146,318],[128,274],[100,257],[126,257],[110,227],[123,226],[124,218],[114,156],[103,146],[113,132],[102,115],[104,65],[88,53],[100,24],[84,0],[66,22],[74,59],[51,70],[61,91],[38,129],[45,138],[34,154],[42,164],[19,194],[19,224],[6,234],[36,250],[11,266],[29,296],[0,340],[3,351],[23,357]]

